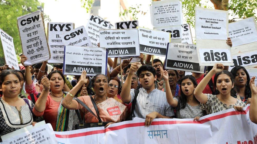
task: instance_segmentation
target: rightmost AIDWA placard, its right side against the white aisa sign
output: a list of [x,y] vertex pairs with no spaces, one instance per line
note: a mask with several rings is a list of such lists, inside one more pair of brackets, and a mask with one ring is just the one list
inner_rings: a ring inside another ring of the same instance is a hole
[[204,73],[205,67],[199,65],[196,45],[169,43],[165,68],[180,71]]

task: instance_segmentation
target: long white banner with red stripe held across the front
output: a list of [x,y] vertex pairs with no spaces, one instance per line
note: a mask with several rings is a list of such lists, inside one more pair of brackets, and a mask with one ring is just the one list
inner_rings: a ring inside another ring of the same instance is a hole
[[249,119],[249,105],[193,119],[145,119],[111,124],[106,129],[92,127],[55,132],[59,143],[256,143],[257,125]]

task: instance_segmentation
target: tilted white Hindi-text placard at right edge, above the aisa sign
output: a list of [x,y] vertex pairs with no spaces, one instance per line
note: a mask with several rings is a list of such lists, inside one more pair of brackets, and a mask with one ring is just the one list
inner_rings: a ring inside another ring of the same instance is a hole
[[255,17],[229,23],[229,37],[233,47],[257,41]]

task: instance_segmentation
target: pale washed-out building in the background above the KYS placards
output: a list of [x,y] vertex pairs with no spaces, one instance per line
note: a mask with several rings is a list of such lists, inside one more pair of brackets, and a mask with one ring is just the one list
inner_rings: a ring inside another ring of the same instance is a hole
[[120,12],[123,13],[128,7],[127,0],[95,0],[90,14],[98,15],[111,24],[115,24],[116,22],[132,20],[130,13],[120,17]]

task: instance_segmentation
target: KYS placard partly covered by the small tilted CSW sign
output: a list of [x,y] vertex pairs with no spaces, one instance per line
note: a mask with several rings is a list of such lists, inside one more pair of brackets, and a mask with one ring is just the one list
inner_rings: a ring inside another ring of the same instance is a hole
[[73,29],[74,23],[48,23],[47,38],[51,52],[51,58],[48,60],[48,63],[63,63],[64,45],[61,34]]

